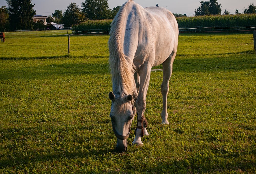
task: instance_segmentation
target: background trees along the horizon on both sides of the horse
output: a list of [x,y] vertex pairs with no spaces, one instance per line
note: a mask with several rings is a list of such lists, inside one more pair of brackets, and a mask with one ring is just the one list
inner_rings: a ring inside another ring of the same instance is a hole
[[[0,30],[33,30],[47,28],[42,22],[33,21],[36,15],[35,4],[31,0],[6,0],[8,7],[0,8]],[[220,15],[221,4],[217,0],[201,1],[201,5],[195,10],[195,16]],[[121,6],[109,8],[107,0],[85,0],[80,8],[76,3],[70,3],[62,14],[62,10],[55,10],[52,16],[48,16],[47,23],[55,22],[64,24],[65,27],[80,24],[87,20],[113,19]],[[256,6],[249,4],[244,13],[255,13]],[[225,14],[230,14],[225,11]],[[237,11],[237,14],[238,11]],[[176,17],[186,14],[174,14]]]

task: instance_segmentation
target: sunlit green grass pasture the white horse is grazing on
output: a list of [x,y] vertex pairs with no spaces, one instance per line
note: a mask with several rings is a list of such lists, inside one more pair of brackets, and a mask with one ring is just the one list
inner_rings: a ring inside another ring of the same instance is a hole
[[[151,74],[143,146],[115,151],[109,36],[23,36],[0,44],[0,173],[255,173],[256,55],[251,34],[184,34],[161,125]],[[161,66],[155,67],[161,68]],[[136,120],[136,118],[135,118]]]

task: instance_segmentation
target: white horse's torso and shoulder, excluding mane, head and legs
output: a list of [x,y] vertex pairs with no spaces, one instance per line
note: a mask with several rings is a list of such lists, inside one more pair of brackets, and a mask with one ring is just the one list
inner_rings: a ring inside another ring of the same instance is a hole
[[127,15],[124,54],[134,58],[136,67],[163,63],[178,45],[178,24],[174,15],[161,7],[143,8],[134,3]]

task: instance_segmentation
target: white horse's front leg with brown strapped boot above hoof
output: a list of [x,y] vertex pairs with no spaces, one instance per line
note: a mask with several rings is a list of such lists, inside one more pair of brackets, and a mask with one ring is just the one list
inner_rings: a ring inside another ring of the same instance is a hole
[[146,95],[148,90],[148,84],[150,81],[150,70],[151,68],[145,68],[140,70],[140,87],[139,94],[136,101],[137,109],[137,127],[135,129],[135,138],[132,142],[133,144],[142,145],[141,137],[144,135],[149,135],[147,132],[147,120],[144,117],[144,112],[146,110]]

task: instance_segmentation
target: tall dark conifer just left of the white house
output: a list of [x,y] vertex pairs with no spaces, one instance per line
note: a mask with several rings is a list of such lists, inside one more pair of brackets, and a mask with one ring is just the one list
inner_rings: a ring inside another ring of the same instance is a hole
[[9,8],[9,22],[13,30],[32,30],[36,11],[31,0],[6,0]]

